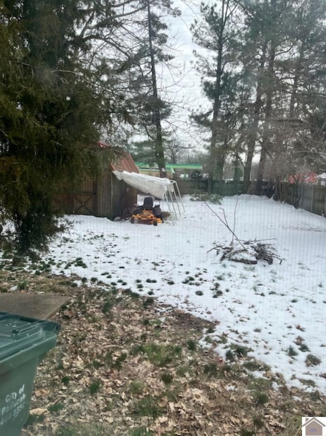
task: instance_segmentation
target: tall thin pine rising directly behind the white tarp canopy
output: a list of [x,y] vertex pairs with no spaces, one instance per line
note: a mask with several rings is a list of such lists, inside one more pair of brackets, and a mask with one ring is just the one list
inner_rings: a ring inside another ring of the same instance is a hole
[[160,177],[166,177],[165,138],[162,123],[171,114],[171,104],[164,99],[158,86],[157,67],[169,64],[173,56],[168,52],[167,24],[160,11],[178,15],[170,0],[141,0],[144,11],[141,26],[134,31],[138,50],[133,52],[130,69],[130,91],[133,94],[134,123],[139,132],[145,132],[153,144],[155,159]]

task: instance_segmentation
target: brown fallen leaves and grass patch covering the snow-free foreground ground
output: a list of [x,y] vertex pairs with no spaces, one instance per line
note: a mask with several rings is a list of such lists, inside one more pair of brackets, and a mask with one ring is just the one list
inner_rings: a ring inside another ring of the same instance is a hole
[[0,278],[3,292],[27,283],[20,292],[69,297],[53,317],[62,329],[38,368],[24,436],[293,436],[302,416],[326,415],[318,392],[289,390],[244,353],[225,361],[201,348],[214,324],[150,296],[46,273]]

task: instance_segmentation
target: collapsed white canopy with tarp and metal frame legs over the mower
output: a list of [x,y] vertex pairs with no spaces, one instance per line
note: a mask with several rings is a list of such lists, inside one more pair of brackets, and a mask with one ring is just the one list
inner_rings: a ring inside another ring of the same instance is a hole
[[152,197],[158,198],[160,200],[166,200],[168,202],[168,206],[170,200],[172,202],[174,212],[175,209],[173,201],[176,200],[177,208],[179,210],[179,214],[181,215],[178,200],[181,202],[181,204],[182,200],[178,185],[175,180],[147,176],[145,174],[128,173],[127,171],[113,171],[113,174],[117,177],[118,180],[123,180],[128,185],[137,188],[145,194],[149,194]]

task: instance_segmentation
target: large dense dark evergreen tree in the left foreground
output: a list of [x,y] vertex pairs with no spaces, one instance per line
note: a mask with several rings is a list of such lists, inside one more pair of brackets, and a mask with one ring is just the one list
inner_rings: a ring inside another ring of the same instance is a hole
[[21,250],[58,231],[52,198],[99,168],[97,143],[110,115],[97,70],[76,53],[84,11],[73,0],[0,4],[0,204]]

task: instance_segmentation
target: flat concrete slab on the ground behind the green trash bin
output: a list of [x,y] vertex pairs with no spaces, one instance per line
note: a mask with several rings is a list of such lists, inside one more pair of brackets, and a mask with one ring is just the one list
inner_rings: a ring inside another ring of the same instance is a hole
[[69,298],[53,294],[0,294],[0,312],[45,320],[53,316]]

